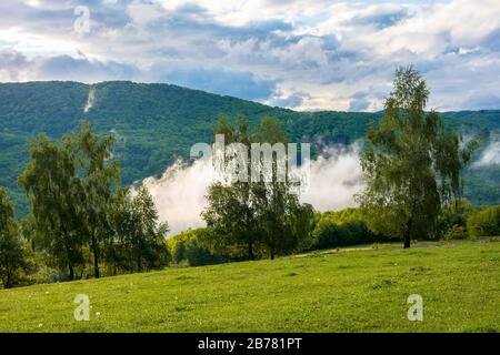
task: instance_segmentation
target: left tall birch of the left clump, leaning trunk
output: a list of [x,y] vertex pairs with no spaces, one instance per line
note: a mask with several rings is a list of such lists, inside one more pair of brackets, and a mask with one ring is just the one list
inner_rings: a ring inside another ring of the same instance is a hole
[[78,210],[82,182],[74,150],[72,136],[64,136],[58,144],[40,135],[31,142],[31,162],[19,176],[31,200],[37,235],[58,266],[67,267],[70,280],[74,278],[74,267],[84,263]]

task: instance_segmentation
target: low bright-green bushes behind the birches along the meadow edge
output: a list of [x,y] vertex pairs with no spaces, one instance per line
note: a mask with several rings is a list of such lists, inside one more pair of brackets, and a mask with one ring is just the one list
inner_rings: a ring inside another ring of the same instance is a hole
[[[340,211],[314,212],[313,229],[302,235],[301,243],[293,253],[314,253],[349,246],[379,248],[384,243],[400,241],[401,236],[376,231],[371,217],[361,207]],[[500,206],[480,209],[469,201],[450,203],[442,207],[431,233],[418,235],[418,241],[449,241],[481,239],[500,235]],[[220,236],[210,227],[183,231],[167,241],[172,266],[202,266],[249,260],[246,250],[236,243],[221,243]],[[254,258],[269,257],[262,245],[256,245]]]

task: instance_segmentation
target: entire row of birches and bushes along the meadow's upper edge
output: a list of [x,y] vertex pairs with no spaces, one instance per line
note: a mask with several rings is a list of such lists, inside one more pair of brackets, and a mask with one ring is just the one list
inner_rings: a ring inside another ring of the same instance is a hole
[[[160,223],[147,189],[121,185],[112,136],[101,138],[84,124],[60,142],[38,136],[18,180],[30,201],[30,213],[21,222],[14,219],[7,191],[0,189],[3,286],[21,282],[37,265],[74,280],[161,268],[169,261],[272,260],[390,239],[401,239],[410,247],[411,240],[452,237],[463,230],[471,235],[496,233],[497,210],[471,214],[461,197],[461,173],[474,141],[462,144],[460,134],[447,130],[437,112],[426,110],[429,90],[413,68],[398,70],[393,88],[384,116],[366,138],[361,154],[366,189],[357,196],[359,209],[316,212],[300,202],[300,182],[277,179],[273,156],[270,181],[210,185],[202,213],[207,227],[168,242],[168,224]],[[243,118],[232,124],[221,119],[216,134],[247,149],[252,143],[288,142],[280,122],[271,118],[253,130]],[[226,164],[233,159],[227,156]],[[262,156],[257,163],[263,164]]]

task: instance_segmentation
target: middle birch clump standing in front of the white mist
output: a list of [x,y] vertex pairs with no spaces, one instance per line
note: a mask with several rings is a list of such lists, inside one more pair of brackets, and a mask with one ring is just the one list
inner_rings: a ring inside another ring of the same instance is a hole
[[[253,151],[253,143],[287,143],[280,122],[266,118],[252,134],[244,119],[240,118],[236,128],[221,120],[216,134],[224,134],[227,144],[238,143],[239,150],[223,152],[223,168],[230,171],[230,176],[228,182],[217,182],[209,187],[208,207],[202,214],[207,225],[223,241],[221,244],[239,247],[250,260],[254,258],[256,247],[264,248],[271,258],[299,250],[313,227],[312,206],[299,202],[289,176],[284,176],[284,181],[278,179],[276,154],[269,166],[263,154]],[[251,152],[250,164],[237,160],[241,158],[240,152],[246,154],[247,162]],[[268,181],[256,176],[256,172],[267,170],[271,176]],[[234,181],[234,176],[244,179]]]

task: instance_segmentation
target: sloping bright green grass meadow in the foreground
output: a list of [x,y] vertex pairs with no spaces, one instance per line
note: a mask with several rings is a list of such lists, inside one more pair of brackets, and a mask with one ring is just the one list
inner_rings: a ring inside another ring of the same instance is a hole
[[[500,243],[419,246],[2,290],[0,331],[500,332]],[[90,322],[73,318],[77,294]],[[410,294],[423,322],[407,318]]]

